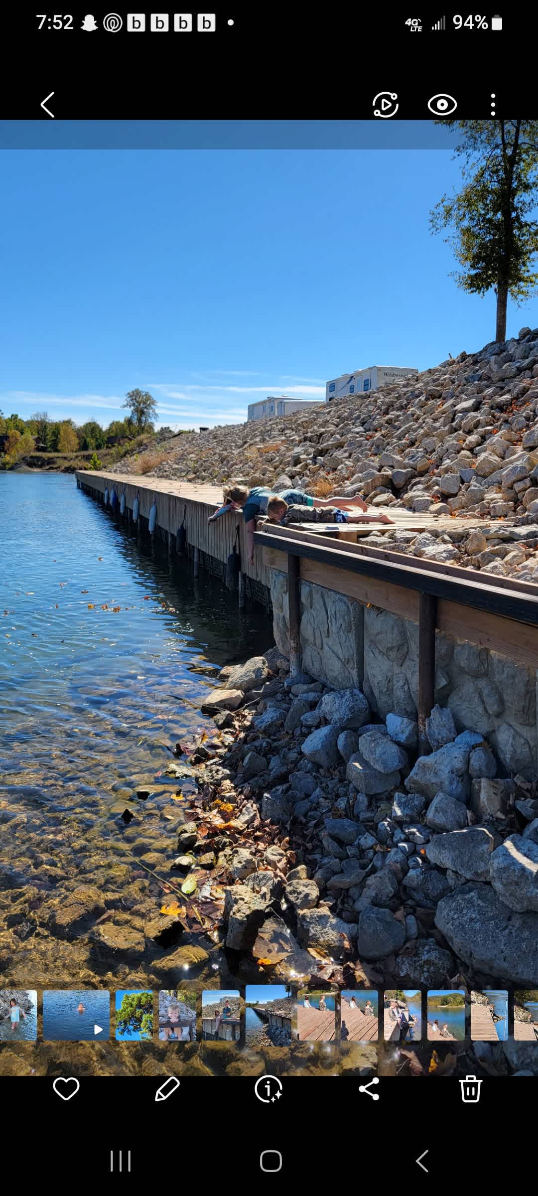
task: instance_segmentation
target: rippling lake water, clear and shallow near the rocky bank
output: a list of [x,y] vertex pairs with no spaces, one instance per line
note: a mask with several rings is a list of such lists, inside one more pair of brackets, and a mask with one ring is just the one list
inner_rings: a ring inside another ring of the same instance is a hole
[[[158,911],[161,886],[133,872],[140,860],[170,875],[184,816],[164,775],[169,749],[214,733],[196,707],[222,665],[270,646],[271,624],[259,606],[239,612],[220,580],[195,581],[187,559],[152,559],[72,475],[0,474],[0,504],[2,980],[67,988],[84,975],[110,988],[110,958],[48,927],[79,885],[106,892],[109,917],[129,921],[143,902]],[[149,800],[136,799],[140,787]],[[136,970],[143,987],[145,959]],[[117,987],[132,971],[114,963]]]

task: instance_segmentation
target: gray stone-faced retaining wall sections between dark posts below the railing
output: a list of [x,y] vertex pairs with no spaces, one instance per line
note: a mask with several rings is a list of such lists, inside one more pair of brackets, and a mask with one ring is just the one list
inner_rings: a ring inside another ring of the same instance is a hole
[[[288,579],[271,569],[275,642],[288,652]],[[301,581],[302,669],[335,689],[359,687],[373,710],[416,718],[418,624],[334,590]],[[458,731],[488,738],[506,773],[538,771],[536,669],[488,648],[436,635],[435,701]]]

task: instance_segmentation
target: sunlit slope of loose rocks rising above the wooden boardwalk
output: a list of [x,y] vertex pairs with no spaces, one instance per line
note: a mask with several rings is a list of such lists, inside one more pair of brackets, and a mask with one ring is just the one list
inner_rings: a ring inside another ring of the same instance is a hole
[[[126,457],[111,472],[136,474]],[[149,471],[151,472],[151,471]],[[154,476],[361,494],[373,507],[469,519],[362,543],[538,580],[538,329],[310,411],[179,437]],[[482,529],[484,519],[503,526]]]

